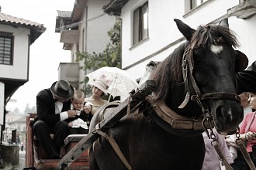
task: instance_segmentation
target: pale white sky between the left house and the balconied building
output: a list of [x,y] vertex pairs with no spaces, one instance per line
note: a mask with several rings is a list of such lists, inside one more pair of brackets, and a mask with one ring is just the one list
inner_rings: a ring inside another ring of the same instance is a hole
[[64,50],[61,34],[55,32],[57,10],[72,11],[75,0],[0,0],[1,12],[21,19],[43,24],[46,32],[30,46],[29,81],[16,90],[7,110],[19,108],[22,113],[27,104],[36,106],[36,94],[58,80],[59,63],[70,63],[71,51]]

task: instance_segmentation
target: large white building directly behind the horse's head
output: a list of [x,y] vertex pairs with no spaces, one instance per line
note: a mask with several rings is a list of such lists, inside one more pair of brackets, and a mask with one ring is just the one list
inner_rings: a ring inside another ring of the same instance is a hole
[[139,80],[150,60],[162,61],[184,42],[174,22],[193,29],[228,18],[249,64],[256,56],[255,0],[112,0],[104,10],[122,18],[122,67]]

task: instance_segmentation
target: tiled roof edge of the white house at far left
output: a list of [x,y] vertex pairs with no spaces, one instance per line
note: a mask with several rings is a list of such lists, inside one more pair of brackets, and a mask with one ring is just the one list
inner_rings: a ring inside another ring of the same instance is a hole
[[7,24],[7,25],[18,25],[21,27],[27,27],[29,29],[38,29],[42,32],[46,30],[46,28],[43,26],[43,24],[39,24],[36,22],[31,22],[26,19],[19,19],[17,17],[14,17],[12,15],[7,15],[4,13],[0,13],[0,23],[1,24]]

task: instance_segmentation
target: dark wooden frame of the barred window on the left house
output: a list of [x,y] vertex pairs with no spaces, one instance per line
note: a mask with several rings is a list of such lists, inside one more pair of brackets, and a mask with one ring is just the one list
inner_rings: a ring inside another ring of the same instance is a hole
[[[0,53],[0,57],[2,55],[2,58],[0,58],[0,64],[2,64],[2,65],[13,65],[14,36],[13,36],[12,33],[9,33],[9,32],[0,32],[0,38],[3,38],[3,40],[4,40],[4,42],[3,42],[3,51],[2,51],[2,54]],[[9,47],[6,46],[5,39],[10,40]],[[8,51],[9,51],[10,54],[5,54],[5,50],[8,49],[8,48],[9,48]],[[5,63],[5,59],[9,59],[9,62]]]

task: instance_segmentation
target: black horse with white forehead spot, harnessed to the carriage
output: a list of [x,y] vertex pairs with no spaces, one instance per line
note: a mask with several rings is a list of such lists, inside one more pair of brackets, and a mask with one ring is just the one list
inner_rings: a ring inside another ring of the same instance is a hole
[[[233,49],[238,44],[227,19],[219,26],[199,26],[197,30],[178,19],[175,22],[187,42],[155,68],[152,78],[157,90],[152,100],[155,104],[164,101],[191,120],[205,115],[219,133],[234,134],[243,119],[236,95],[236,72],[246,68],[247,58]],[[174,128],[148,108],[143,114],[127,114],[108,131],[131,168],[201,170],[205,153],[202,130]],[[92,124],[99,121],[96,117]],[[126,166],[109,141],[99,138],[90,149],[90,169],[120,170]]]

